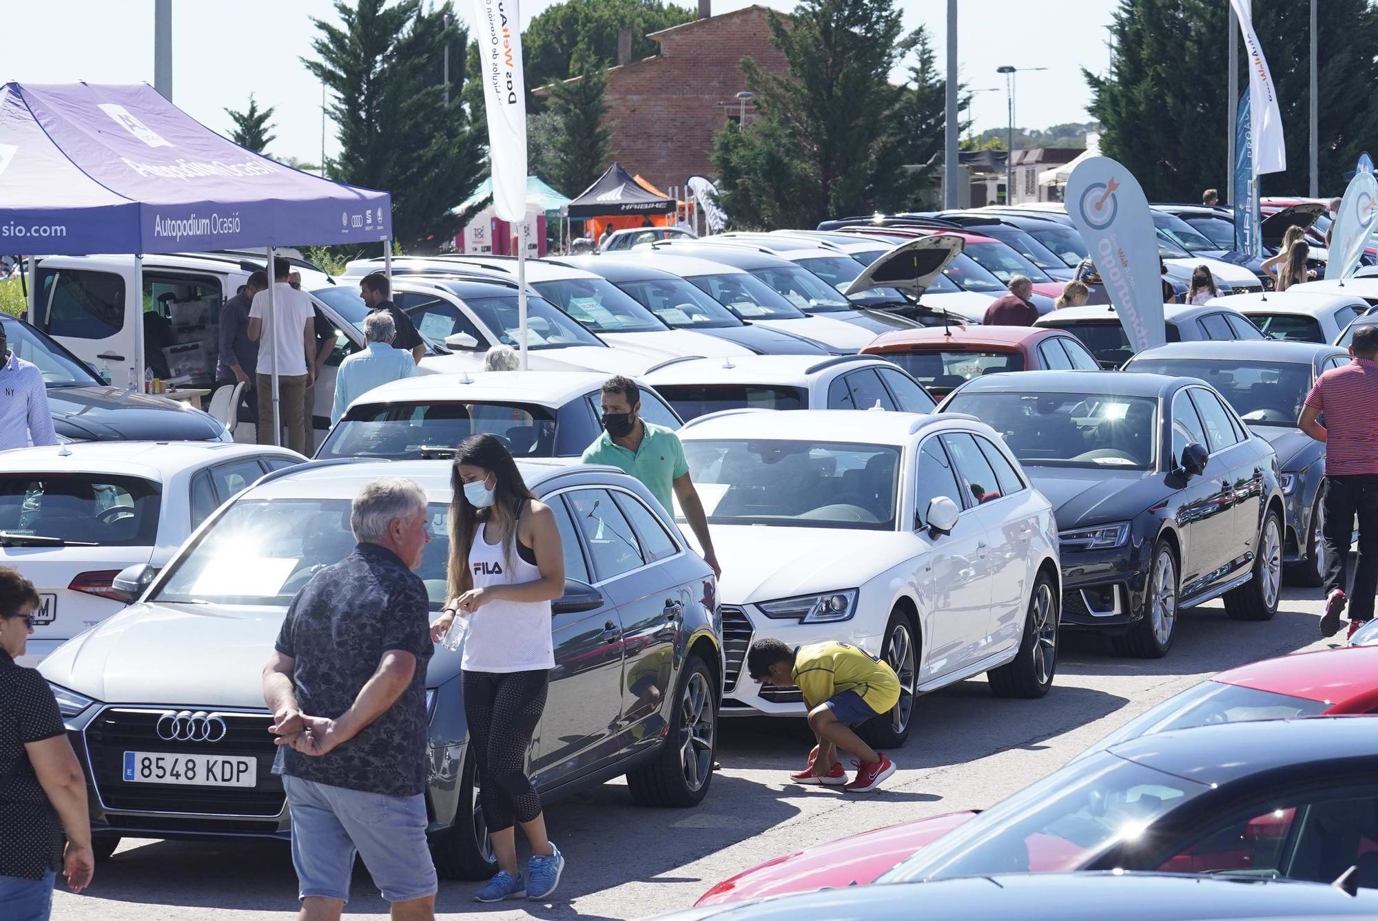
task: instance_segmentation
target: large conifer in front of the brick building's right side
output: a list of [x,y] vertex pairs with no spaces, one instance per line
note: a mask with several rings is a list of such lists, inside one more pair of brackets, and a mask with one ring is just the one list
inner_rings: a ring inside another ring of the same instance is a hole
[[[914,91],[892,85],[890,72],[919,34],[904,32],[894,0],[803,0],[788,26],[774,12],[769,23],[790,76],[741,62],[759,116],[740,138],[719,134],[714,147],[723,209],[748,224],[788,215],[812,226],[908,205],[918,179],[904,169],[912,162],[904,107]],[[762,198],[762,189],[785,187],[796,198]]]

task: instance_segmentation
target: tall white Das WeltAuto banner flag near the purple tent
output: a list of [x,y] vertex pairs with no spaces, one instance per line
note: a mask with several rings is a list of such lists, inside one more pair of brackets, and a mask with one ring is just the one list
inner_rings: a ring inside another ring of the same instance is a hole
[[493,212],[526,219],[526,83],[521,61],[518,0],[474,0],[474,41],[488,113],[488,162]]

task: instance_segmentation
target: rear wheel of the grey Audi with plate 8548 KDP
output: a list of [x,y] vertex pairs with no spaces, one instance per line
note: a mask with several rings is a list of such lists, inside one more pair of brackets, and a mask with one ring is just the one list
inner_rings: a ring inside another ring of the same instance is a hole
[[660,752],[627,774],[627,789],[637,805],[682,809],[699,805],[708,794],[718,742],[717,688],[707,662],[697,655],[685,659]]

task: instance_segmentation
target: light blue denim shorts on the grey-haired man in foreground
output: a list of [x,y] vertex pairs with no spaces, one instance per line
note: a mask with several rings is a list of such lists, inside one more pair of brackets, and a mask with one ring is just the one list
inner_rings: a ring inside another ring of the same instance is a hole
[[435,895],[435,865],[426,847],[426,798],[384,796],[284,776],[292,812],[292,865],[300,898],[349,902],[354,854],[389,902]]

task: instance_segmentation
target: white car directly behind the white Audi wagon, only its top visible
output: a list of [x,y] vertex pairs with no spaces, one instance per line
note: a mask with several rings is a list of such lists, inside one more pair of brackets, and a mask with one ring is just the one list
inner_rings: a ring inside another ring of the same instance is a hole
[[725,409],[885,409],[932,413],[919,381],[872,355],[751,355],[663,365],[646,383],[685,420]]

